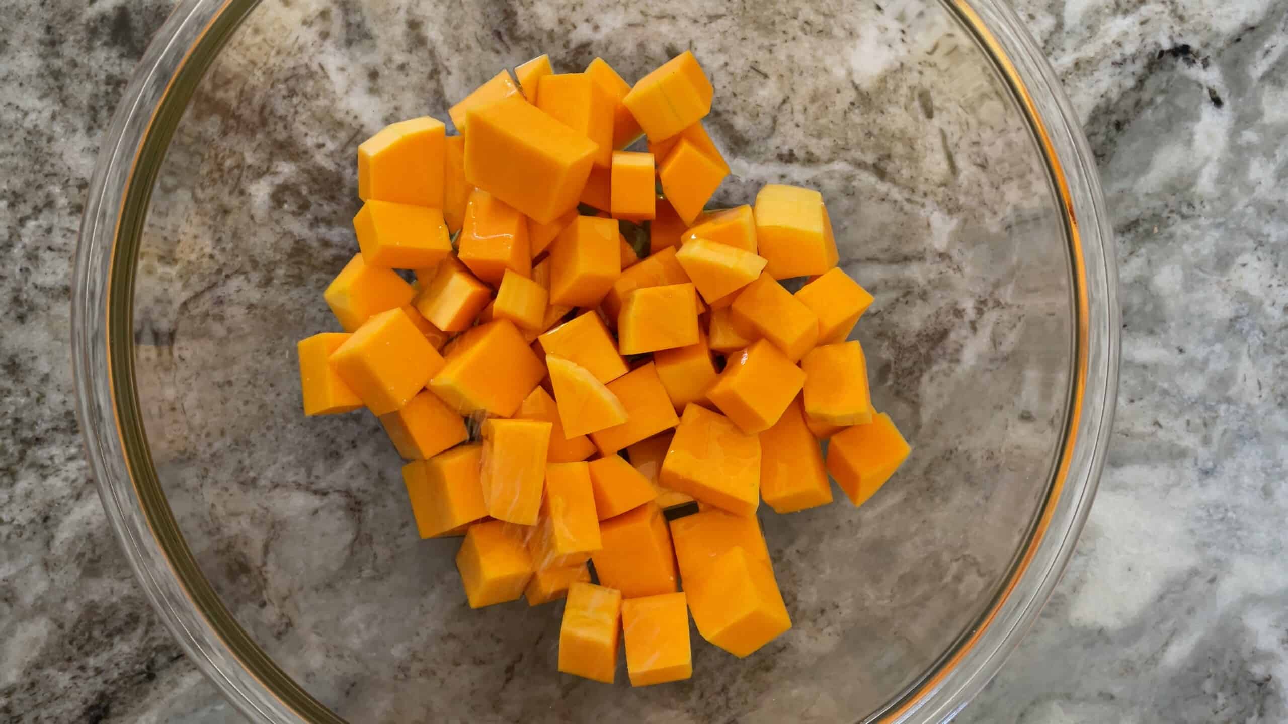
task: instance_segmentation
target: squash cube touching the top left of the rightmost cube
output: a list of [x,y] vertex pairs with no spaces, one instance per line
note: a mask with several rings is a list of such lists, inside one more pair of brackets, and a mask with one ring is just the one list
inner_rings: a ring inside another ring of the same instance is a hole
[[824,344],[801,358],[805,371],[805,412],[829,425],[872,421],[868,362],[858,341]]

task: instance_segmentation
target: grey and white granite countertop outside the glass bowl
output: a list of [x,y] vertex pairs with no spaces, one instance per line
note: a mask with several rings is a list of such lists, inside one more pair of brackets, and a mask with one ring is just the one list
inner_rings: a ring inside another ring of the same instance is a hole
[[[1288,720],[1288,5],[1019,0],[1114,219],[1113,444],[1041,620],[958,721]],[[240,721],[135,585],[82,460],[71,259],[157,0],[0,8],[0,720]]]

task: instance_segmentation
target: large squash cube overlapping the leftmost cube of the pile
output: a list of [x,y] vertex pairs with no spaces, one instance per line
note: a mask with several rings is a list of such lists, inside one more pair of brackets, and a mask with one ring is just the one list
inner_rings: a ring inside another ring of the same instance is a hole
[[407,405],[443,366],[443,358],[402,309],[372,316],[328,361],[377,416]]

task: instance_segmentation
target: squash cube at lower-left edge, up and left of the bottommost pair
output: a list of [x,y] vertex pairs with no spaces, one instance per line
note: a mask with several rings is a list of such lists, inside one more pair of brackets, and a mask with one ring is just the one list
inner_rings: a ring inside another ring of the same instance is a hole
[[523,538],[501,520],[475,523],[456,551],[456,569],[470,608],[515,600],[532,578],[532,558]]

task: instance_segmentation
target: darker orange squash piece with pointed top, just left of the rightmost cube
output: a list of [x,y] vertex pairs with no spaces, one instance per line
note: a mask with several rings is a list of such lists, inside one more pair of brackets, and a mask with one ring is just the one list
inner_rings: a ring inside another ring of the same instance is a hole
[[800,395],[773,428],[760,433],[760,500],[774,513],[795,513],[832,502],[823,450],[805,424]]

